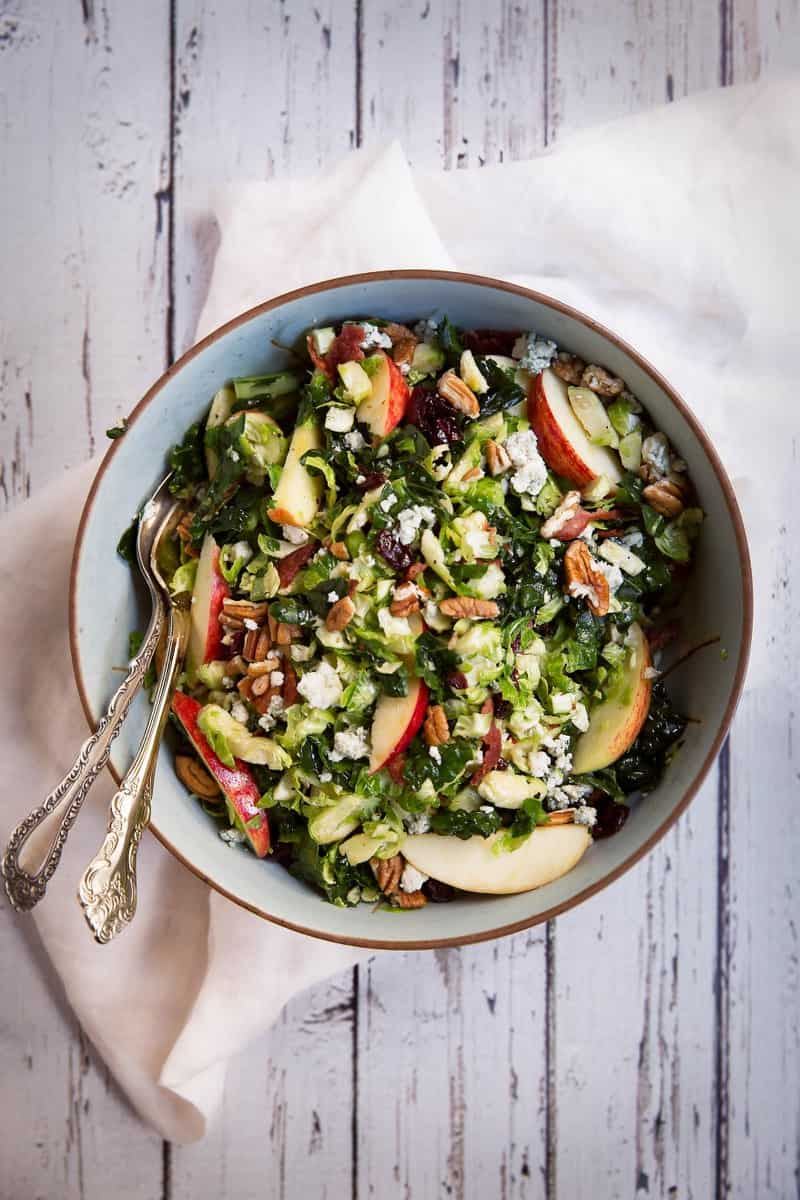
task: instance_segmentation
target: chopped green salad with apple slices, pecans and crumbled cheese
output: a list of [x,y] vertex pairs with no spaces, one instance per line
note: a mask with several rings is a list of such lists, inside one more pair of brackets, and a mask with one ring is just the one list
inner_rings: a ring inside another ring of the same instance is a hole
[[534,331],[354,316],[294,349],[170,454],[176,773],[338,906],[546,884],[684,733],[658,654],[703,522],[686,464]]

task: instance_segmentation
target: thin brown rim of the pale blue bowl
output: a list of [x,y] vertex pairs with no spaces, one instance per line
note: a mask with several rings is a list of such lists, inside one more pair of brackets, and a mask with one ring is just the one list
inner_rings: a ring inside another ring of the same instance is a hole
[[[427,270],[397,270],[397,271],[366,271],[361,275],[343,275],[333,280],[324,280],[320,283],[311,283],[305,288],[296,288],[294,292],[284,292],[283,295],[276,296],[273,300],[267,300],[264,304],[255,305],[253,308],[248,308],[247,312],[241,313],[239,317],[234,317],[233,320],[227,322],[227,324],[221,325],[213,332],[209,334],[200,342],[197,342],[191,349],[188,349],[176,362],[169,367],[164,374],[145,392],[139,403],[136,406],[133,412],[128,418],[128,427],[132,426],[139,415],[139,413],[150,404],[155,397],[158,395],[164,384],[176,374],[181,367],[190,362],[197,354],[200,354],[206,346],[217,341],[223,334],[229,332],[231,329],[236,329],[239,325],[245,324],[253,317],[270,312],[272,308],[278,308],[282,305],[291,301],[299,300],[301,296],[313,295],[318,292],[330,292],[339,287],[345,287],[348,284],[357,283],[369,283],[373,281],[386,281],[386,280],[452,280],[456,283],[473,283],[479,287],[488,287],[499,292],[510,292],[515,295],[525,296],[529,300],[536,300],[539,304],[545,305],[548,308],[553,308],[557,312],[564,313],[567,317],[573,318],[579,322],[579,324],[587,326],[600,334],[612,344],[616,346],[625,354],[628,355],[650,378],[666,392],[672,403],[675,406],[678,412],[684,416],[686,422],[693,430],[696,437],[698,438],[703,450],[714,468],[714,472],[722,488],[726,504],[728,505],[728,512],[730,514],[730,520],[733,521],[736,545],[739,547],[739,562],[741,568],[741,588],[742,588],[742,637],[741,646],[739,648],[739,661],[736,664],[736,673],[733,680],[733,688],[730,690],[730,697],[726,707],[722,722],[714,739],[711,749],[705,756],[700,768],[686,788],[684,796],[681,797],[679,804],[669,814],[667,820],[656,829],[650,838],[646,839],[624,863],[620,863],[613,871],[606,875],[597,883],[593,883],[590,887],[584,888],[571,900],[565,900],[563,904],[553,905],[546,912],[537,916],[530,917],[525,920],[517,920],[510,925],[499,925],[497,929],[487,930],[480,934],[465,934],[463,937],[440,937],[431,940],[415,938],[411,941],[402,942],[384,942],[366,937],[336,937],[333,934],[324,934],[319,930],[306,929],[303,925],[296,925],[289,920],[282,920],[279,917],[273,917],[271,913],[263,908],[255,907],[255,905],[247,904],[247,901],[241,900],[239,896],[228,892],[225,888],[221,887],[213,880],[210,880],[203,871],[198,870],[193,863],[173,846],[170,841],[164,838],[162,833],[158,832],[155,824],[150,828],[156,835],[158,841],[180,862],[184,866],[187,866],[190,871],[197,875],[199,878],[204,880],[209,887],[213,888],[221,895],[225,896],[228,900],[233,900],[241,908],[247,908],[249,912],[255,913],[257,917],[261,917],[265,920],[272,922],[275,925],[282,925],[284,929],[291,929],[297,934],[306,934],[308,937],[318,937],[325,942],[337,942],[342,946],[360,946],[368,950],[428,950],[428,949],[443,949],[451,946],[469,946],[475,942],[488,942],[495,937],[505,937],[510,934],[518,934],[523,929],[530,929],[533,925],[539,925],[545,920],[551,920],[553,917],[558,917],[559,913],[566,912],[569,908],[573,908],[576,905],[581,904],[583,900],[588,900],[589,896],[595,895],[596,892],[602,890],[602,888],[608,887],[614,880],[619,878],[625,871],[627,871],[634,863],[638,863],[652,847],[664,836],[664,834],[672,828],[678,817],[686,810],[690,800],[693,798],[698,791],[700,784],[708,775],[714,761],[716,760],[722,743],[726,738],[730,721],[733,720],[736,704],[739,703],[739,697],[741,695],[741,689],[745,679],[745,672],[747,670],[747,660],[750,656],[750,644],[752,637],[753,626],[753,580],[752,570],[750,563],[750,551],[747,548],[747,539],[745,535],[745,526],[741,518],[741,512],[739,511],[739,505],[736,503],[736,497],[728,479],[728,475],[722,466],[720,457],[711,444],[709,436],[702,427],[694,414],[686,406],[686,403],[680,398],[675,389],[667,383],[662,374],[650,362],[646,361],[637,350],[627,344],[621,337],[612,334],[610,330],[601,325],[600,322],[593,320],[593,318],[587,317],[585,313],[579,312],[577,308],[572,308],[570,305],[563,304],[560,300],[554,300],[552,296],[543,295],[541,292],[534,292],[530,288],[519,287],[516,283],[506,283],[503,280],[494,280],[485,275],[470,275],[463,274],[461,271],[427,271]],[[80,650],[78,646],[78,628],[77,628],[77,612],[76,612],[76,581],[78,577],[78,568],[80,562],[80,551],[83,546],[84,532],[86,528],[86,521],[91,511],[95,493],[103,478],[108,464],[112,462],[114,455],[116,454],[118,443],[113,442],[103,461],[97,469],[97,474],[92,481],[91,488],[89,490],[89,496],[83,508],[80,515],[80,523],[78,526],[78,534],[76,538],[74,552],[72,556],[72,568],[70,572],[70,650],[72,655],[72,666],[76,677],[76,683],[78,685],[78,694],[80,696],[80,703],[83,704],[84,713],[86,714],[86,720],[91,728],[95,728],[97,724],[97,716],[91,709],[89,703],[89,697],[86,695],[86,688],[84,684],[83,671],[80,666]],[[116,782],[120,782],[119,775],[114,768],[109,764],[109,770]],[[323,902],[323,901],[320,901]]]

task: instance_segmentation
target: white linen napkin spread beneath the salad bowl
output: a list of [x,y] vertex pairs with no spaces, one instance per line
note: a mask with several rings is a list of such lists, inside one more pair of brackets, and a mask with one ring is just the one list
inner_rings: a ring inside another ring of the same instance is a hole
[[[763,577],[781,526],[777,488],[765,480],[792,469],[798,428],[799,106],[800,82],[783,80],[607,125],[528,163],[414,176],[392,145],[350,155],[313,187],[231,185],[213,204],[222,238],[199,332],[267,295],[384,266],[455,265],[548,292],[619,331],[676,383],[733,473]],[[70,473],[0,532],[2,727],[14,781],[0,808],[4,842],[86,736],[66,590],[91,470]],[[35,578],[23,570],[30,546]],[[751,684],[766,678],[765,646],[757,637]],[[236,908],[151,838],[139,856],[136,922],[94,946],[73,896],[110,792],[110,780],[97,784],[34,920],[78,1019],[143,1118],[190,1141],[203,1136],[227,1061],[291,995],[359,952]],[[253,978],[258,989],[241,986]],[[235,1027],[224,1020],[231,990]]]

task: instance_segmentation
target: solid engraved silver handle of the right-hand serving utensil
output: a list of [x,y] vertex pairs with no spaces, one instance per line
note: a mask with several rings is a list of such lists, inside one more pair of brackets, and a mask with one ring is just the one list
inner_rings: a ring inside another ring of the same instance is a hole
[[110,806],[108,833],[78,887],[95,941],[110,942],[133,919],[137,904],[136,858],[150,821],[158,746],[175,680],[188,641],[188,612],[170,607],[167,650],[142,745]]

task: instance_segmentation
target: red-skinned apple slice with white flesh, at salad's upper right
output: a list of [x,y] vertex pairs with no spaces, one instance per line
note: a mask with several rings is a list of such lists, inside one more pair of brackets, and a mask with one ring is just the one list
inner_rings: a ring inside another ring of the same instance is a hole
[[566,384],[549,370],[537,374],[528,391],[528,420],[539,439],[539,450],[557,475],[585,487],[599,475],[619,484],[622,468],[608,446],[596,446],[572,412]]

